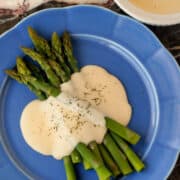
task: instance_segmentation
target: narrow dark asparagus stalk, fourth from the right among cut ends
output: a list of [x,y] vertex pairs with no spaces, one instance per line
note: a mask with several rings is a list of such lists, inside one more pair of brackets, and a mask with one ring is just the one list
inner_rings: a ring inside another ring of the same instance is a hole
[[106,150],[103,144],[99,144],[98,146],[106,166],[111,170],[113,176],[118,176],[121,173],[121,171],[119,170],[117,164],[114,162],[111,155]]

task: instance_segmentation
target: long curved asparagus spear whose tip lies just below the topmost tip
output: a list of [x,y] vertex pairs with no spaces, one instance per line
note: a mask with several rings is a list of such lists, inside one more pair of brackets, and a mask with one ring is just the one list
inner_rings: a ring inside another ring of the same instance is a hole
[[44,59],[44,57],[41,54],[33,51],[30,48],[22,47],[21,49],[26,55],[30,56],[33,60],[39,63],[41,68],[45,71],[47,78],[52,83],[52,85],[59,87],[60,80],[55,74],[55,72],[52,70],[51,66],[48,64],[47,60]]

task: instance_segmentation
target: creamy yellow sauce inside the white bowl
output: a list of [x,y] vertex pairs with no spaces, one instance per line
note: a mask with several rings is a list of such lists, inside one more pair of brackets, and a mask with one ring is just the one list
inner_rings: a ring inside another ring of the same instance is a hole
[[152,13],[180,13],[180,0],[129,0],[135,6]]

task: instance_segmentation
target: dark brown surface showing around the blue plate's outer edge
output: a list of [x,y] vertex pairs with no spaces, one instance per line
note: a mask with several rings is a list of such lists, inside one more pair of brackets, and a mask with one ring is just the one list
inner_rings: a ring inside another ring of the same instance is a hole
[[[21,19],[23,19],[25,16],[38,11],[40,9],[49,8],[49,7],[64,7],[67,6],[67,4],[64,3],[56,3],[56,2],[50,2],[46,3],[44,5],[41,5],[30,12],[24,14],[21,17],[18,17],[12,21],[8,21],[4,24],[0,25],[0,34],[5,32],[6,30],[13,27],[17,22],[19,22]],[[116,11],[120,14],[125,14],[122,10],[119,9],[118,6],[112,5],[110,7],[113,11]],[[148,26],[148,25],[147,25]],[[167,27],[158,27],[158,26],[148,26],[161,40],[161,42],[164,44],[164,46],[169,49],[169,51],[174,55],[176,61],[178,64],[180,64],[180,24],[174,25],[174,26],[167,26]],[[161,167],[159,167],[161,168]],[[176,162],[176,165],[171,172],[171,175],[169,176],[168,180],[180,180],[180,157],[178,161]]]

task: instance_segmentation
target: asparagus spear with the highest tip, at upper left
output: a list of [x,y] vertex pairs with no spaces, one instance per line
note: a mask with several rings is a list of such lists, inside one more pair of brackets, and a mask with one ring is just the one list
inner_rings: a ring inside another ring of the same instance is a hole
[[39,52],[42,55],[46,55],[48,58],[55,59],[55,56],[51,51],[51,47],[49,46],[48,41],[46,39],[39,36],[32,27],[28,27],[28,33],[37,52]]

